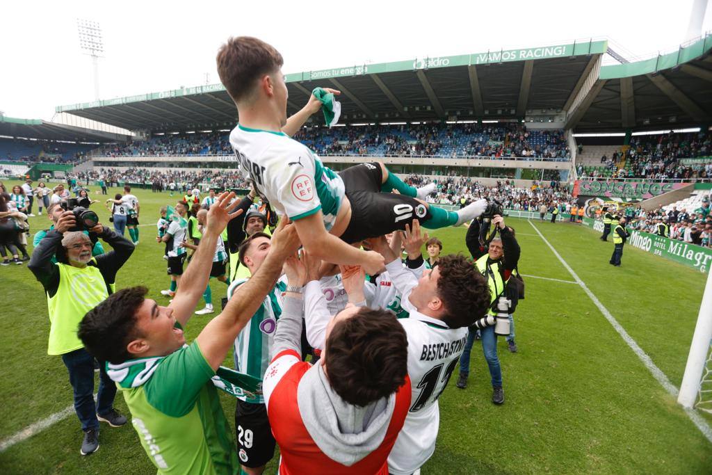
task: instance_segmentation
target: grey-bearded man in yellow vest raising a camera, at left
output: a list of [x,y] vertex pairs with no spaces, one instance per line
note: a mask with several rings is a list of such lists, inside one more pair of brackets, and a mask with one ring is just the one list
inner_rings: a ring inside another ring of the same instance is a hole
[[[111,427],[126,423],[113,407],[116,385],[100,363],[99,391],[94,403],[94,358],[77,336],[84,315],[105,301],[115,291],[116,273],[133,253],[131,241],[102,224],[89,230],[109,244],[113,251],[92,257],[92,241],[75,229],[74,214],[65,211],[54,229],[35,248],[28,268],[47,294],[49,310],[49,355],[61,355],[74,391],[74,409],[81,422],[84,438],[81,454],[99,448],[99,421]],[[57,257],[57,262],[52,259]]]

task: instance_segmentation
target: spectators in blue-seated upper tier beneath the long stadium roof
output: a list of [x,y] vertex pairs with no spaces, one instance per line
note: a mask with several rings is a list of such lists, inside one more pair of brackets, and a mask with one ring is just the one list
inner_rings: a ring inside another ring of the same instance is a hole
[[[319,155],[486,156],[569,160],[562,130],[519,124],[409,124],[304,127],[295,139]],[[96,150],[110,157],[231,155],[229,132],[161,135]]]

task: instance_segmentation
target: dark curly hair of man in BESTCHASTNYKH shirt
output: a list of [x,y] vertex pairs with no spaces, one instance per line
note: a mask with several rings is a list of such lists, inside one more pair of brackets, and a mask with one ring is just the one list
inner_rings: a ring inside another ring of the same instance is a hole
[[483,317],[490,304],[486,279],[461,254],[441,257],[437,292],[445,307],[442,320],[450,328],[468,327]]

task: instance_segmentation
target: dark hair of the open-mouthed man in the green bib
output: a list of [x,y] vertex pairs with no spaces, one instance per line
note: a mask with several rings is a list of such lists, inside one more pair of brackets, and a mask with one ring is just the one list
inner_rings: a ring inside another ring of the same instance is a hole
[[126,346],[141,336],[136,313],[147,293],[143,286],[122,288],[84,315],[77,335],[97,360],[119,365],[131,359]]

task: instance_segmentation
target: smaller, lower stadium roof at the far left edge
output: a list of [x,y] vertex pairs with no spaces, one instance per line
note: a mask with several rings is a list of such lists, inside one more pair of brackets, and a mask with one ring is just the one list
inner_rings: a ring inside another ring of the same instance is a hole
[[0,135],[71,142],[111,142],[126,140],[127,135],[85,129],[39,119],[18,119],[0,115]]

